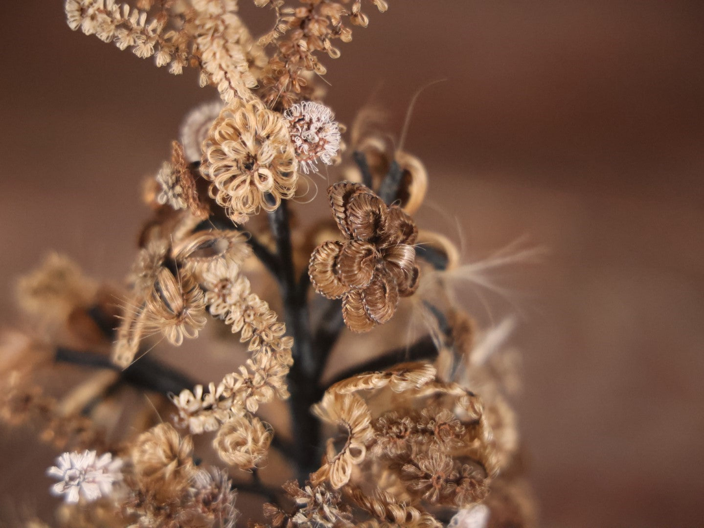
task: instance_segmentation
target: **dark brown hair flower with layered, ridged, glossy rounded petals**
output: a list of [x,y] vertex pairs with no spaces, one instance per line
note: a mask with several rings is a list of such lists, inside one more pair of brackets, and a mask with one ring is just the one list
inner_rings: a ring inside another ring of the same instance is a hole
[[328,240],[315,248],[310,281],[325,297],[342,297],[346,325],[365,332],[394,316],[398,297],[415,292],[420,275],[413,247],[417,228],[400,207],[387,206],[359,183],[335,183],[327,193],[347,240]]

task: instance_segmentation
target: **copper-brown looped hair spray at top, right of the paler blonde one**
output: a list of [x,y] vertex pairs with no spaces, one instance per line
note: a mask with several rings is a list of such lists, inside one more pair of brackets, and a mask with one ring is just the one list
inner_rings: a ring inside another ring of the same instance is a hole
[[[386,11],[385,0],[372,0],[379,11]],[[305,0],[296,8],[284,5],[284,0],[255,0],[258,6],[272,6],[277,20],[272,32],[260,40],[261,44],[275,43],[276,50],[262,78],[265,86],[263,99],[269,105],[280,104],[289,108],[308,89],[307,72],[325,75],[325,66],[316,53],[324,52],[330,58],[338,58],[340,51],[333,41],[352,39],[353,25],[366,27],[369,18],[362,9],[361,0]],[[350,5],[351,4],[351,5]]]

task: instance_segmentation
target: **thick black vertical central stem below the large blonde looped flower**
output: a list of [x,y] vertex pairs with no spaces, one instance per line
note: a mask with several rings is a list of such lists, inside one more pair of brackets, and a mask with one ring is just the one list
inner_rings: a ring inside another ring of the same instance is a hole
[[287,202],[269,214],[269,225],[276,240],[279,261],[279,288],[284,302],[287,330],[294,338],[291,353],[294,364],[289,371],[289,406],[293,443],[296,447],[296,476],[303,483],[316,468],[320,458],[320,422],[310,412],[310,406],[318,400],[318,380],[315,378],[315,357],[310,335],[310,318],[306,295],[296,281],[293,248]]

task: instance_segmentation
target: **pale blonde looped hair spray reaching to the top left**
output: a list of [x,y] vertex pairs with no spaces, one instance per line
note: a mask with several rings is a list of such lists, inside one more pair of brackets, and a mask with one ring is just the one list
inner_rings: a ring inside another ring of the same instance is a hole
[[[147,10],[153,2],[142,2]],[[140,58],[153,56],[156,65],[180,74],[198,65],[201,86],[213,84],[224,101],[250,98],[256,79],[251,68],[265,64],[263,52],[237,15],[237,0],[159,2],[146,11],[115,0],[67,0],[65,13],[72,30],[95,34]]]

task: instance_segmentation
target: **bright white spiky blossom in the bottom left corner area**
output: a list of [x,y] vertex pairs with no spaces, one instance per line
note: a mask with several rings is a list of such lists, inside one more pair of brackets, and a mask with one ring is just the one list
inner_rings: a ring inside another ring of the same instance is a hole
[[65,495],[67,503],[77,503],[79,496],[89,502],[111,494],[113,484],[122,479],[122,460],[111,453],[96,457],[95,451],[73,451],[56,458],[56,465],[46,475],[59,479],[51,487],[51,494]]

